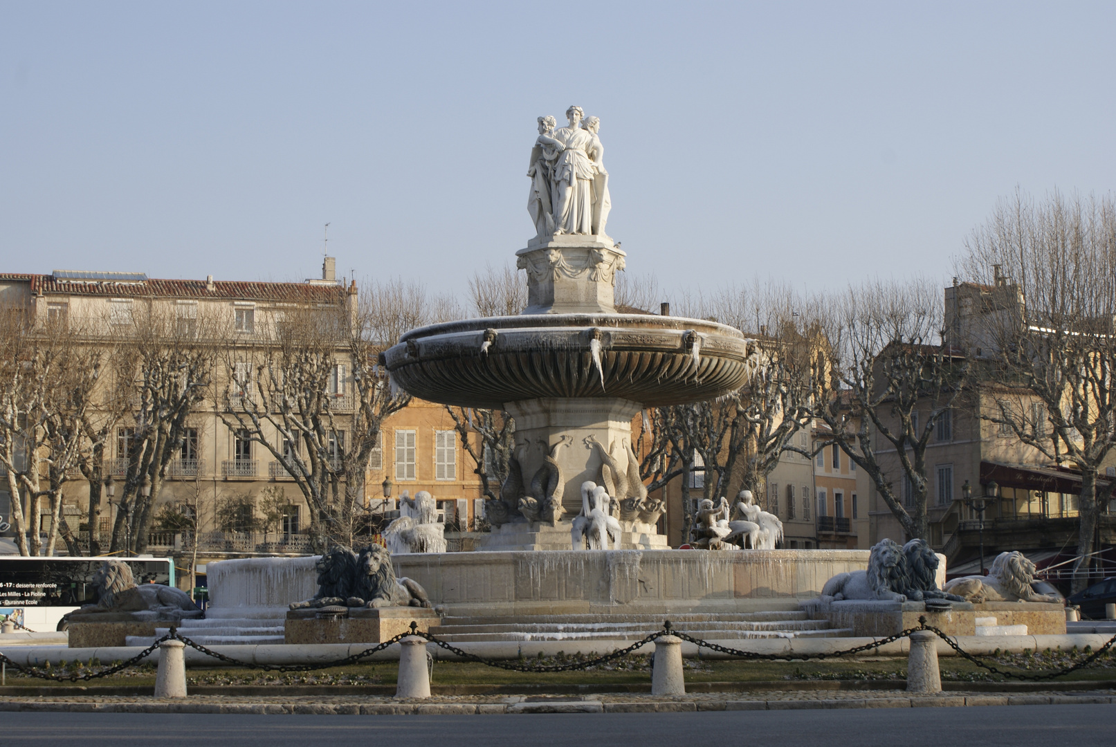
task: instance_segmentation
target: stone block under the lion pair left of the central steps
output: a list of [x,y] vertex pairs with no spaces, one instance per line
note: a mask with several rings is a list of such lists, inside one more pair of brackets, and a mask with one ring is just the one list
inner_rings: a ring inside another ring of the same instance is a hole
[[315,609],[290,610],[283,627],[285,643],[382,643],[411,630],[430,632],[437,627],[436,612],[421,607],[349,608],[337,619],[319,620]]

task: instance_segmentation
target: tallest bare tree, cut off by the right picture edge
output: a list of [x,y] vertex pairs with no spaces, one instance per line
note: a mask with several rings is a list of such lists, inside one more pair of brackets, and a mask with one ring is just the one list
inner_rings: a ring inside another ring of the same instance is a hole
[[1116,446],[1116,203],[1017,192],[966,242],[960,269],[984,285],[959,329],[988,361],[985,419],[1056,464],[1081,472],[1074,590],[1088,584],[1097,516]]

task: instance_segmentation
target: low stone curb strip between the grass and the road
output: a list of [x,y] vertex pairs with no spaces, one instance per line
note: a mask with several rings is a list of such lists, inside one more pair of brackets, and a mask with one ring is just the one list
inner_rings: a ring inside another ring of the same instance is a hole
[[980,706],[1062,706],[1112,705],[1116,697],[1107,695],[1028,695],[1028,696],[926,696],[895,698],[849,698],[833,700],[677,700],[602,702],[535,701],[496,704],[218,704],[189,701],[157,702],[75,702],[75,701],[7,701],[0,712],[75,712],[75,714],[256,714],[256,715],[321,715],[321,716],[434,716],[489,714],[664,714],[709,710],[827,710],[846,708],[926,708]]

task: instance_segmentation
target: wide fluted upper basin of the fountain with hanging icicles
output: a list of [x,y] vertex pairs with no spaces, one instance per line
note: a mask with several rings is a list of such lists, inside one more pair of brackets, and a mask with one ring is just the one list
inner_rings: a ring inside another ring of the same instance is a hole
[[502,408],[543,397],[615,397],[654,407],[739,389],[749,353],[739,330],[715,322],[545,314],[423,327],[404,334],[385,358],[398,386],[446,405]]

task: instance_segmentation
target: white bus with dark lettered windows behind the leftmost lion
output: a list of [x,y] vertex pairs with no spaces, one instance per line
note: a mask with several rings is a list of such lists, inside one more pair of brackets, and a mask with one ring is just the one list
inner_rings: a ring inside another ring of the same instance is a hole
[[[107,557],[0,555],[0,617],[37,632],[56,630],[67,612],[97,603],[93,575]],[[117,557],[136,583],[174,585],[170,557]]]

